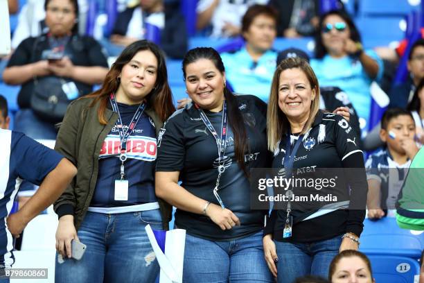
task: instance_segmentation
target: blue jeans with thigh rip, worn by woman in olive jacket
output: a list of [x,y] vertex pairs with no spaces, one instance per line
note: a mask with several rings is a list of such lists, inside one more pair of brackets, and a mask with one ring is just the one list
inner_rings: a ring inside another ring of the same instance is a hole
[[78,238],[87,245],[82,259],[65,259],[58,264],[56,253],[55,282],[103,283],[145,282],[159,275],[153,249],[144,230],[161,230],[159,209],[122,214],[87,212]]

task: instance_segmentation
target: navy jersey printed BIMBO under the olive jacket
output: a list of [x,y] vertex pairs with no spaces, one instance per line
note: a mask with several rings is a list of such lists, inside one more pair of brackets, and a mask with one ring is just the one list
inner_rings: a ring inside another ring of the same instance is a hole
[[[124,130],[130,124],[139,105],[118,103]],[[115,180],[119,180],[121,161],[121,140],[116,125],[107,135],[99,155],[96,190],[90,207],[123,207],[153,203],[154,166],[157,145],[154,123],[146,114],[140,117],[132,135],[127,141],[127,160],[125,161],[125,180],[128,180],[128,200],[114,199]]]

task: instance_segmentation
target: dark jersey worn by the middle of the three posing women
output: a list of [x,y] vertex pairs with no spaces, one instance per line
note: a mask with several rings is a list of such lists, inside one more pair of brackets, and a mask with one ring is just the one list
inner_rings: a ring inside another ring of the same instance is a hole
[[[266,104],[251,95],[236,96],[236,100],[244,118],[249,144],[250,152],[244,157],[246,169],[267,167],[270,165],[270,152],[267,151]],[[204,110],[204,113],[220,135],[222,111],[215,113]],[[225,207],[234,212],[242,224],[231,230],[221,230],[209,217],[182,209],[177,209],[175,214],[175,225],[186,229],[188,234],[211,241],[238,239],[258,232],[263,229],[266,213],[250,207],[250,182],[236,160],[231,126],[227,127],[226,139],[226,170],[220,178],[218,194]],[[193,104],[178,110],[168,119],[161,130],[159,144],[156,171],[179,171],[184,189],[219,205],[213,195],[219,165],[217,143]]]

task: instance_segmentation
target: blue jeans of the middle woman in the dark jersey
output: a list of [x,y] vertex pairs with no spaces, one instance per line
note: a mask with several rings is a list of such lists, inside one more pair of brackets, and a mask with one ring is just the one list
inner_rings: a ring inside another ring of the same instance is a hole
[[183,282],[274,282],[262,236],[260,231],[233,241],[209,241],[187,234]]

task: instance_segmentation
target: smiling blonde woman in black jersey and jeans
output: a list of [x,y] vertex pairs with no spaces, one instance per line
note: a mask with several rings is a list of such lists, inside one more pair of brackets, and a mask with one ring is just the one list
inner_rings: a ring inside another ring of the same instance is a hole
[[[292,169],[312,166],[364,168],[355,130],[342,116],[321,112],[319,98],[317,77],[306,60],[288,58],[280,63],[267,110],[267,142],[274,152],[272,167],[285,168],[286,178]],[[365,171],[344,178],[348,184],[333,188],[340,196],[335,210],[272,211],[263,245],[278,282],[293,282],[308,274],[326,277],[339,250],[358,249],[365,210],[351,208],[365,208]]]

